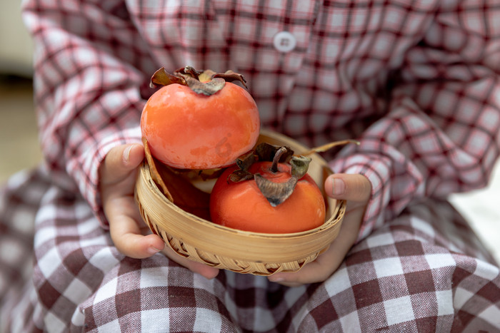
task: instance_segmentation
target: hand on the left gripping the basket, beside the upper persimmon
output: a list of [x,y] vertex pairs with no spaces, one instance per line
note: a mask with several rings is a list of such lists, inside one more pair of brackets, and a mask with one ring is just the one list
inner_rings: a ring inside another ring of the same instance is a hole
[[116,249],[132,258],[151,257],[162,251],[171,260],[207,279],[216,277],[219,270],[193,262],[177,255],[165,246],[143,222],[134,200],[134,185],[139,165],[144,159],[140,144],[119,145],[112,148],[99,168],[99,187],[104,214]]

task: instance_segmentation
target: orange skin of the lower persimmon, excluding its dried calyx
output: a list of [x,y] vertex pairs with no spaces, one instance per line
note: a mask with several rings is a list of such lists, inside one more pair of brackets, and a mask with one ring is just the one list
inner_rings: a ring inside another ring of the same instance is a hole
[[[279,163],[279,172],[269,172],[271,162],[258,162],[251,173],[260,173],[274,182],[286,182],[290,166]],[[228,180],[236,166],[227,168],[214,185],[210,196],[211,220],[238,230],[265,233],[290,233],[314,229],[324,223],[326,208],[323,195],[314,180],[304,175],[288,199],[272,207],[255,180],[239,183]]]

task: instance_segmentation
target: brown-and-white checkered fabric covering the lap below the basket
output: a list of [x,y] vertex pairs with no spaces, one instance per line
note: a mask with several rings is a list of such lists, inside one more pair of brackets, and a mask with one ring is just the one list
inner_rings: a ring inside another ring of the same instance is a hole
[[163,255],[124,257],[84,200],[39,170],[12,178],[0,207],[5,332],[500,329],[499,268],[445,201],[409,206],[326,282],[294,288],[226,271],[206,280]]

